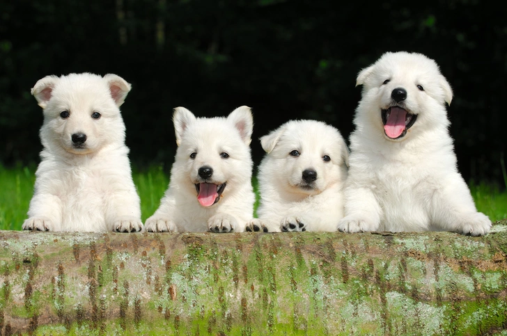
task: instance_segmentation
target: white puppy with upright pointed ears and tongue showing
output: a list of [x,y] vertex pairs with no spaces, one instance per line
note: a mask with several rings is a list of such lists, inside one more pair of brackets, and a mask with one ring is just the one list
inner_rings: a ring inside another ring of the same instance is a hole
[[196,118],[178,107],[173,122],[178,150],[171,182],[146,230],[244,232],[255,201],[250,108],[238,107],[227,118]]

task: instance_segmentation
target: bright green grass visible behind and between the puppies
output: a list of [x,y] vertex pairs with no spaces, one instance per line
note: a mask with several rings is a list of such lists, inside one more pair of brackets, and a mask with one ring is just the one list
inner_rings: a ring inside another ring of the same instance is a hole
[[[35,170],[35,166],[5,168],[0,165],[0,230],[21,230],[33,193]],[[145,221],[158,208],[169,186],[169,170],[153,166],[148,170],[134,169],[132,175],[141,198],[141,219]],[[253,179],[253,186],[257,191],[256,179]],[[485,183],[472,183],[470,191],[478,211],[492,221],[507,218],[507,191]],[[256,194],[255,209],[259,198]]]

